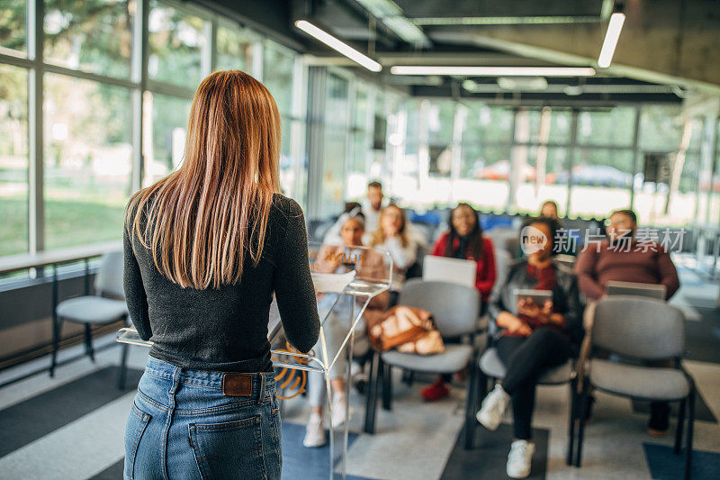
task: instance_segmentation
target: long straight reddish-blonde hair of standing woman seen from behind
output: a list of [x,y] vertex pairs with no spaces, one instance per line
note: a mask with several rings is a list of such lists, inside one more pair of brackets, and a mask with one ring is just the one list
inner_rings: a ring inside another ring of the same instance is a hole
[[130,239],[134,231],[151,249],[161,274],[183,288],[220,288],[240,281],[246,255],[257,266],[279,190],[281,128],[275,99],[255,78],[229,70],[202,80],[182,166],[125,210]]

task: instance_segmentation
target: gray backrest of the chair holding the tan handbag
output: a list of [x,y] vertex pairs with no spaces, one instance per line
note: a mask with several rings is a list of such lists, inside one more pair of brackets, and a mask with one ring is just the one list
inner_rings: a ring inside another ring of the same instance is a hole
[[419,278],[402,285],[398,304],[432,313],[437,330],[444,337],[473,333],[480,314],[480,294],[474,287]]

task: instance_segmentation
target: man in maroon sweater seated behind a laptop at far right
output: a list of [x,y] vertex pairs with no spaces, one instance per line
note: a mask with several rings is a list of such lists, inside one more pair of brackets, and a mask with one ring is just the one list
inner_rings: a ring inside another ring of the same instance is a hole
[[[678,291],[680,279],[670,254],[658,243],[644,241],[639,244],[635,240],[635,212],[613,212],[606,231],[608,240],[586,245],[575,263],[580,290],[589,300],[605,296],[605,285],[609,281],[665,285],[667,299]],[[648,432],[653,436],[665,435],[670,405],[653,402],[650,411]]]

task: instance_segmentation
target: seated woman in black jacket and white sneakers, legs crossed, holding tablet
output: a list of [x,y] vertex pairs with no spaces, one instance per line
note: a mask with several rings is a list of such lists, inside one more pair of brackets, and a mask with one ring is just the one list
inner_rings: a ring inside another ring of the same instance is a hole
[[[568,267],[554,262],[557,223],[537,218],[526,223],[521,243],[535,247],[527,258],[510,267],[508,276],[490,303],[491,318],[500,329],[496,348],[507,369],[505,378],[482,402],[477,419],[496,430],[512,401],[513,442],[507,473],[512,478],[530,474],[535,452],[532,418],[537,378],[548,367],[562,365],[576,351],[582,336],[582,312],[577,279]],[[530,237],[530,241],[528,241]],[[552,301],[538,305],[516,299],[515,290],[552,291]]]

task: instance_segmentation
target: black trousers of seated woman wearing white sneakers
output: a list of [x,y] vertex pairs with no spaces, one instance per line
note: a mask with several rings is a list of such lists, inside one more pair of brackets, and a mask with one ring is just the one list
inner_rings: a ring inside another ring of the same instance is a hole
[[513,435],[529,440],[537,379],[546,368],[561,365],[570,358],[570,340],[560,331],[543,327],[526,338],[500,337],[497,349],[507,369],[502,388],[512,400]]

